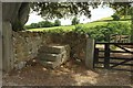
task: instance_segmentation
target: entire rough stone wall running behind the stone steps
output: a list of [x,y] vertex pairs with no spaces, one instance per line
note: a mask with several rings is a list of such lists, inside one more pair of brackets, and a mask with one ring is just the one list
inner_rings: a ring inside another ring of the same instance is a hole
[[85,58],[85,34],[78,34],[73,32],[13,32],[13,53],[16,67],[18,67],[20,64],[25,64],[27,61],[38,58],[39,50],[43,50],[42,46],[49,44],[69,44],[71,47],[71,58]]

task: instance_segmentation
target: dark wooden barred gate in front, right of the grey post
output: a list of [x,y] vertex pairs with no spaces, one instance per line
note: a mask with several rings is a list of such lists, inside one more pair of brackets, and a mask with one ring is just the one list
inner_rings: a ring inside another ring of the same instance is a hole
[[133,43],[95,43],[94,67],[130,70],[133,66]]

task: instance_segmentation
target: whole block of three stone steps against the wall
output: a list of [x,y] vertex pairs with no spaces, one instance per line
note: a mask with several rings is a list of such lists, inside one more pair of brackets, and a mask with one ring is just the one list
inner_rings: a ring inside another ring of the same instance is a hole
[[38,57],[40,64],[44,67],[55,68],[66,62],[70,57],[70,46],[69,45],[49,45],[42,47],[41,53]]

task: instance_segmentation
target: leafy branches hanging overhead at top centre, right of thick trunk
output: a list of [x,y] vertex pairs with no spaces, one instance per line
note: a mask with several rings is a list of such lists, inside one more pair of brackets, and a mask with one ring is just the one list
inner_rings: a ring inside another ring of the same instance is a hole
[[98,8],[100,2],[32,2],[31,9],[44,19],[69,18],[71,15],[91,16],[90,7]]

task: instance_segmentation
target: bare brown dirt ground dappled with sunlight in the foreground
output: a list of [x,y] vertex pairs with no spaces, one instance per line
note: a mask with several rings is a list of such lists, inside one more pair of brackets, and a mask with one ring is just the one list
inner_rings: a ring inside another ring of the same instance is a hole
[[89,70],[84,64],[68,62],[57,69],[40,64],[3,76],[3,86],[129,86],[131,72],[98,69]]

